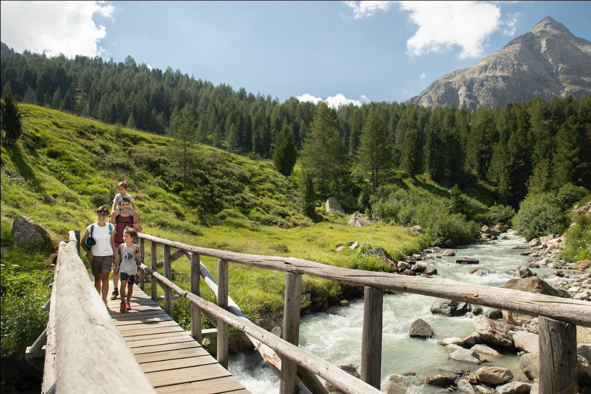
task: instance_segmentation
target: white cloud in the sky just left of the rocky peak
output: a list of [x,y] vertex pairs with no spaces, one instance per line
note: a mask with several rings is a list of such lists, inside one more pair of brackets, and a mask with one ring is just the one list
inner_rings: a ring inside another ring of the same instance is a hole
[[418,26],[407,40],[407,53],[427,53],[460,48],[460,58],[482,57],[489,37],[496,31],[512,35],[518,14],[501,18],[498,2],[482,1],[347,1],[355,19],[371,17],[376,11],[388,11],[397,4],[410,12],[410,20]]

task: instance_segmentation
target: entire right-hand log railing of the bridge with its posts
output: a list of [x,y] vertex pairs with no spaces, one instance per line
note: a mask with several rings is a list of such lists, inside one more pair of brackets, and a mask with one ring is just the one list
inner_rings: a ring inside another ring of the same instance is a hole
[[[540,344],[540,393],[576,394],[577,392],[577,344],[576,325],[591,327],[591,303],[570,298],[553,297],[513,289],[485,285],[473,285],[448,279],[436,279],[395,273],[361,271],[337,268],[296,258],[247,255],[226,250],[199,248],[147,234],[139,234],[140,248],[144,241],[151,242],[151,268],[141,265],[164,289],[164,309],[171,314],[172,292],[191,302],[191,333],[200,340],[201,312],[210,320],[217,320],[217,360],[228,364],[228,326],[246,333],[281,356],[280,392],[293,394],[298,387],[297,367],[303,367],[314,375],[333,383],[348,394],[365,394],[379,390],[381,382],[382,354],[382,295],[385,289],[431,297],[454,299],[487,307],[538,316]],[[163,261],[157,261],[157,245],[163,245]],[[170,248],[178,249],[171,253]],[[171,281],[171,261],[186,255],[191,262],[191,291],[181,289]],[[218,305],[199,297],[200,275],[204,266],[200,256],[219,259],[217,300]],[[228,263],[272,269],[285,272],[284,327],[281,340],[258,327],[244,317],[236,317],[228,308]],[[164,265],[164,275],[156,272],[159,263]],[[326,363],[324,360],[297,347],[300,325],[301,275],[330,279],[341,284],[363,286],[364,313],[361,350],[361,380]],[[143,284],[143,279],[141,279]],[[152,299],[156,299],[156,286],[152,281]],[[301,385],[300,385],[301,388]]]

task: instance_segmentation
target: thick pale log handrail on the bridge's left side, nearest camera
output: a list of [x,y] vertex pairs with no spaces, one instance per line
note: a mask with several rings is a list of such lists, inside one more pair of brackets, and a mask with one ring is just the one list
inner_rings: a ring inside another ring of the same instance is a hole
[[111,323],[77,253],[75,240],[60,250],[57,265],[51,302],[57,338],[56,392],[119,392],[121,382],[134,382],[134,389],[153,393],[124,338]]

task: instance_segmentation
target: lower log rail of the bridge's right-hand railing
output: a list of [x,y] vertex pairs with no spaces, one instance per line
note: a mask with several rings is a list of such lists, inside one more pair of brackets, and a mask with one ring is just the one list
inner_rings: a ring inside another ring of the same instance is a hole
[[142,269],[145,272],[152,275],[152,284],[154,281],[160,282],[162,286],[167,286],[176,292],[178,295],[189,299],[191,303],[199,305],[199,307],[212,315],[215,315],[218,321],[222,320],[225,323],[231,324],[238,330],[247,334],[248,336],[254,337],[262,343],[267,344],[271,349],[280,353],[283,357],[296,362],[298,365],[305,366],[311,372],[322,377],[324,380],[333,383],[339,390],[346,394],[381,394],[381,391],[368,385],[365,382],[357,379],[356,377],[349,375],[342,369],[333,366],[332,364],[324,361],[320,357],[314,356],[305,350],[294,346],[287,341],[269,333],[264,328],[258,327],[258,325],[252,323],[246,318],[238,317],[225,309],[218,307],[212,302],[206,301],[203,298],[197,297],[189,291],[186,291],[160,273],[153,269],[142,265]]

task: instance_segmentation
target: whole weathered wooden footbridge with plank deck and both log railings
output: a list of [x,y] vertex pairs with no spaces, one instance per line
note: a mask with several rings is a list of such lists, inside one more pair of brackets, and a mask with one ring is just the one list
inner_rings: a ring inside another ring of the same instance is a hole
[[[241,330],[280,376],[280,393],[326,394],[318,377],[347,394],[378,394],[381,383],[382,295],[384,289],[455,299],[538,316],[541,394],[577,393],[576,325],[591,327],[591,303],[512,289],[465,284],[444,279],[336,268],[295,258],[246,255],[198,248],[139,234],[144,255],[151,243],[151,267],[141,265],[132,310],[119,313],[119,302],[108,309],[88,280],[79,257],[79,232],[60,244],[50,300],[47,330],[27,354],[44,354],[43,393],[249,393],[228,372],[228,325]],[[163,260],[157,261],[158,245]],[[177,249],[171,253],[171,248]],[[200,263],[200,256],[218,260],[218,281]],[[171,262],[187,256],[190,291],[171,281]],[[229,262],[285,272],[282,338],[251,323],[228,297]],[[157,270],[164,267],[164,275]],[[301,278],[312,275],[365,289],[361,349],[361,379],[300,349]],[[144,276],[151,276],[146,295]],[[213,290],[217,305],[199,297],[200,281]],[[164,311],[156,303],[157,286],[164,290]],[[173,295],[173,292],[177,295]],[[191,304],[191,330],[172,320],[173,297]],[[215,330],[202,331],[202,317]],[[212,333],[212,331],[214,331]],[[217,336],[217,359],[201,346],[203,336]]]

